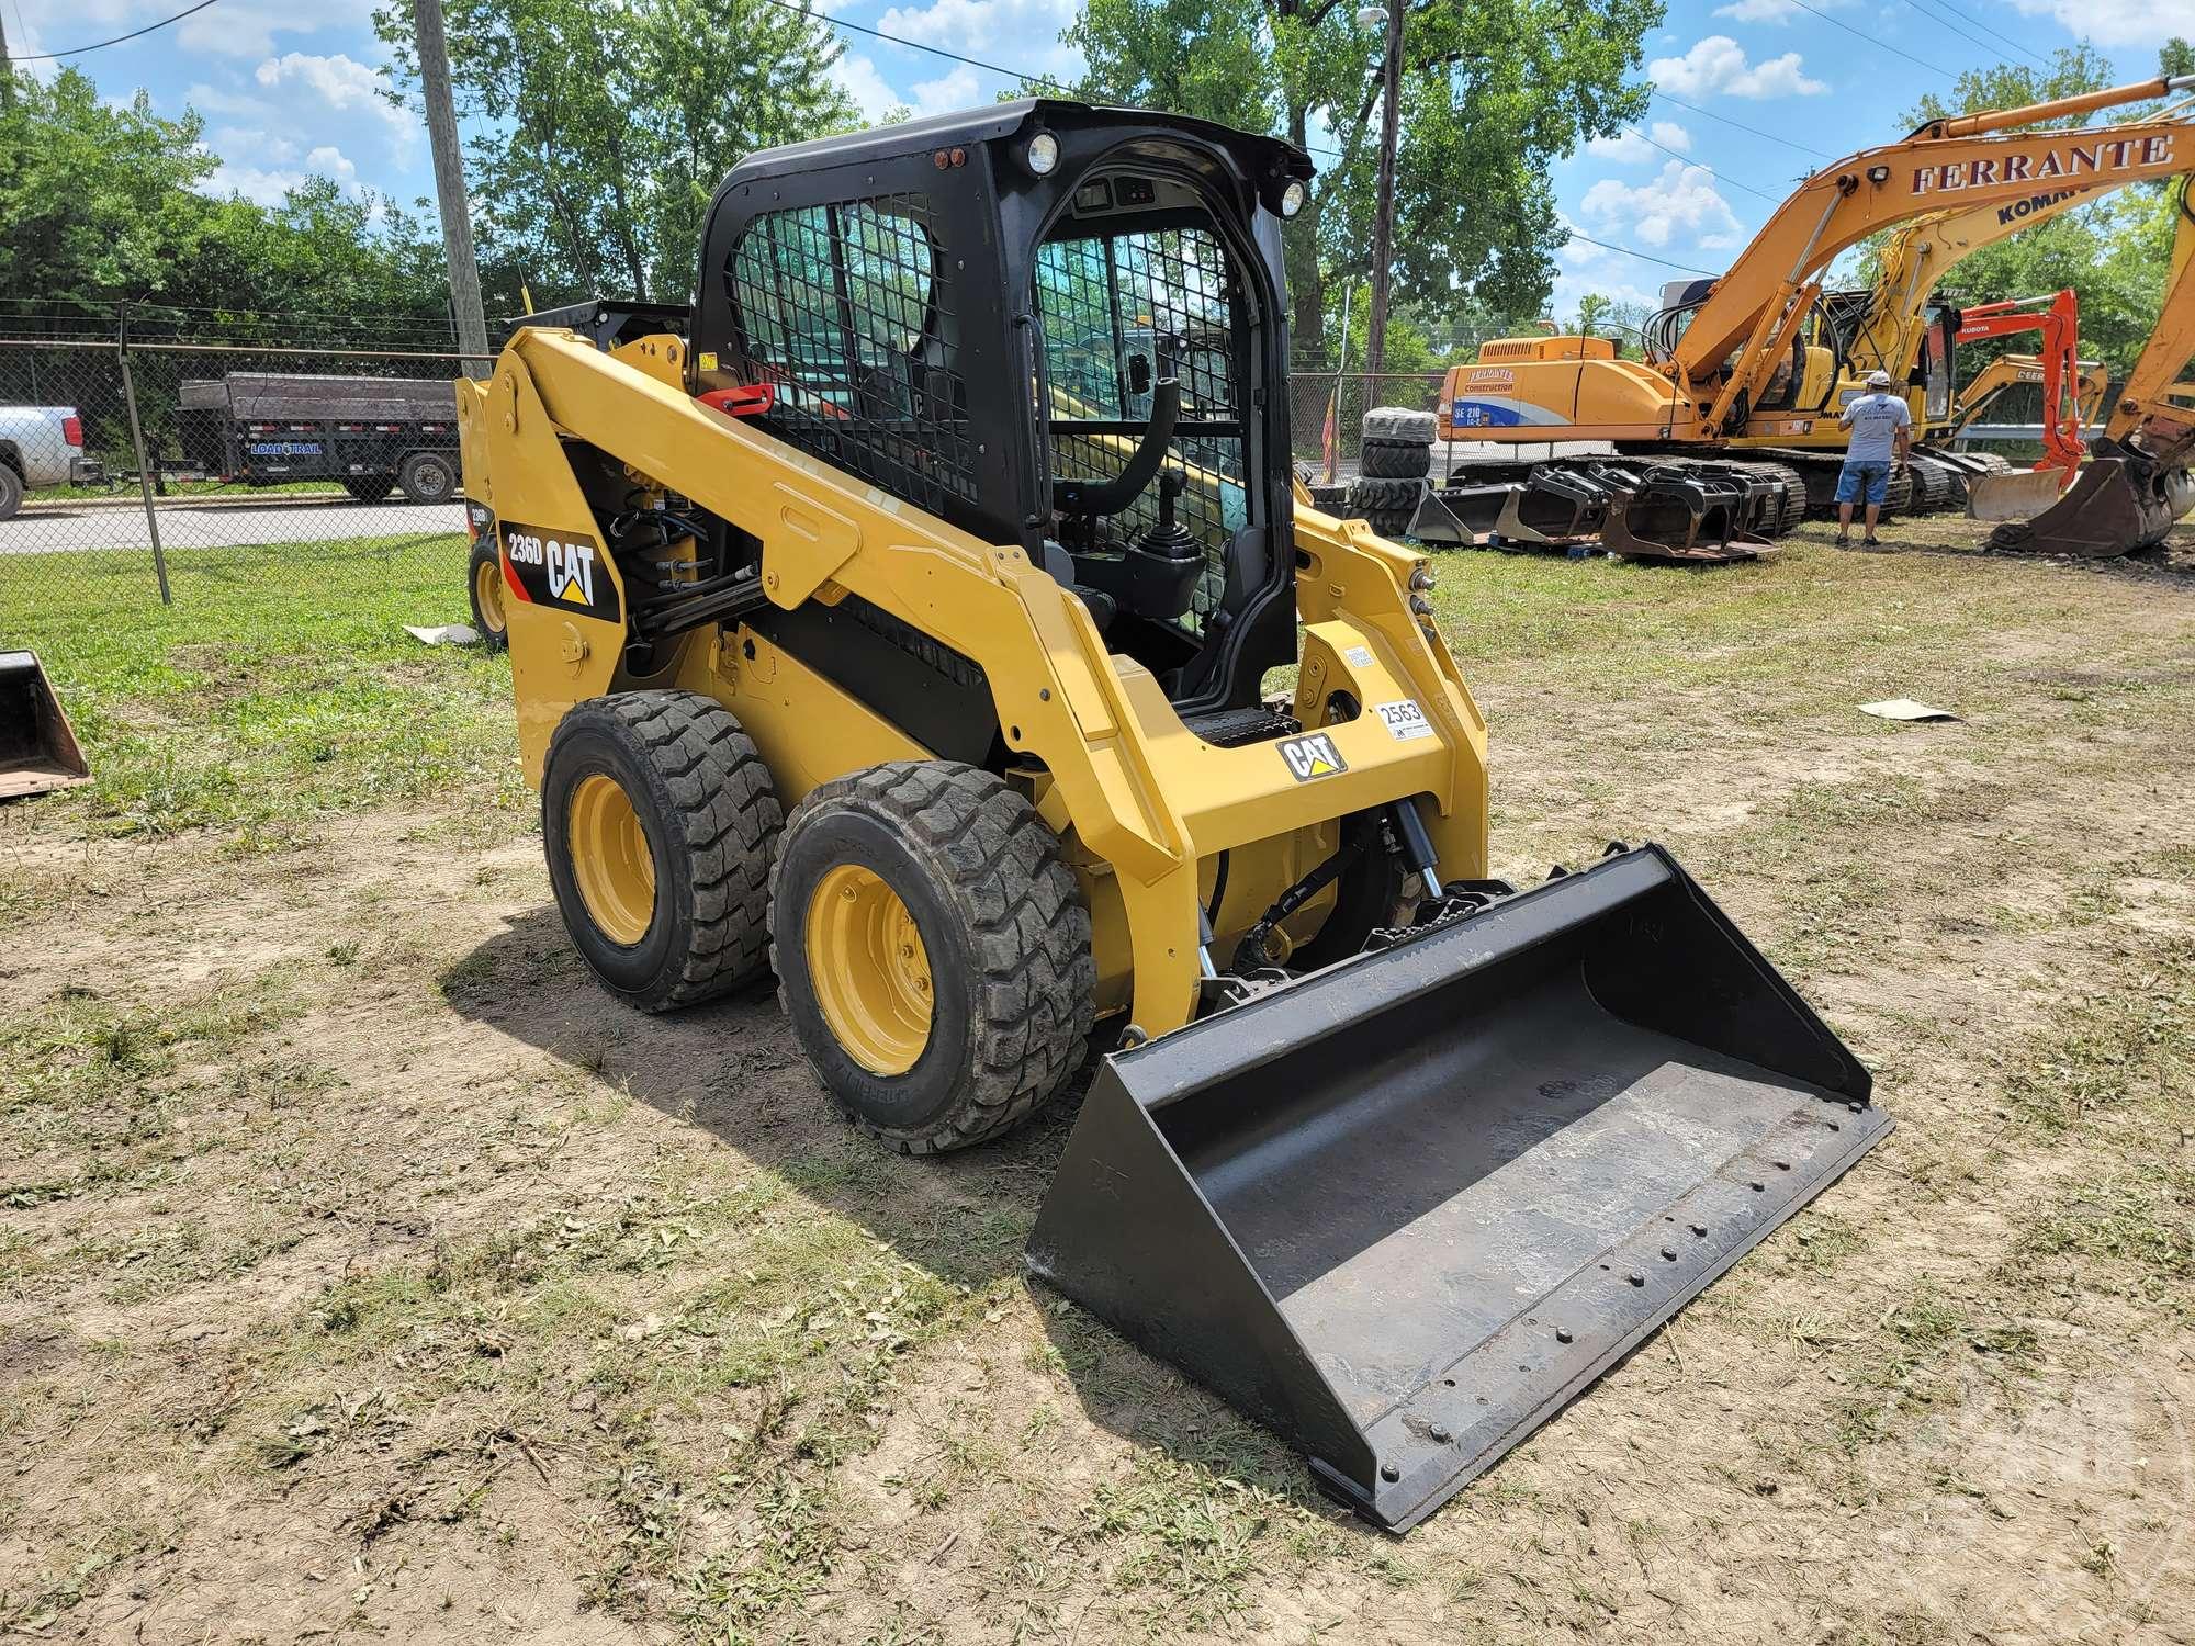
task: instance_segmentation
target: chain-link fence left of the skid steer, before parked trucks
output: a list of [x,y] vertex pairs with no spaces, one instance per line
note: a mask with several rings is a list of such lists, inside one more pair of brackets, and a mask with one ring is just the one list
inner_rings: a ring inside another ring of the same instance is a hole
[[[446,329],[0,316],[0,643],[331,560],[448,562],[465,520]],[[487,362],[476,362],[485,371]]]

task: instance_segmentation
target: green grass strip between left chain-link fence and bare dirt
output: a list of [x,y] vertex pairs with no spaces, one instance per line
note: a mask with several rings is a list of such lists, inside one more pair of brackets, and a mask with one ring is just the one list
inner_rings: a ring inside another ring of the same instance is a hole
[[143,551],[35,571],[0,577],[0,636],[37,647],[97,777],[44,819],[263,841],[391,801],[520,801],[509,665],[404,632],[470,621],[463,535],[173,549],[173,606]]

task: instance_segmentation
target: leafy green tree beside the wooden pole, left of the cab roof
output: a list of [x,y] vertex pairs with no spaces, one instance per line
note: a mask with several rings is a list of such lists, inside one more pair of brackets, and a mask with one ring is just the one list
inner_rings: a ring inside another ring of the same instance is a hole
[[[410,4],[373,24],[415,83]],[[540,305],[689,296],[733,162],[856,123],[836,35],[773,0],[452,0],[446,29],[483,261]]]

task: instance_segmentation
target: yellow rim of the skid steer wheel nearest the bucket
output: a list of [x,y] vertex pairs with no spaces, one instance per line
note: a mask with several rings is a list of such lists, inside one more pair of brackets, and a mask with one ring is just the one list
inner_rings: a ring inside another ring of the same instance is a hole
[[913,913],[856,863],[808,898],[808,983],[832,1036],[874,1075],[904,1075],[931,1042],[931,957]]

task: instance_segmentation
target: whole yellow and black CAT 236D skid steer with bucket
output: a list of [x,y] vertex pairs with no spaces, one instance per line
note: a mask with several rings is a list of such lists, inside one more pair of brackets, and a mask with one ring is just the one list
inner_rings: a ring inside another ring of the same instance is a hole
[[1308,176],[1058,101],[757,154],[691,314],[463,386],[465,494],[604,988],[775,974],[909,1154],[1095,1058],[1032,1273],[1405,1527],[1886,1121],[1662,852],[1486,878],[1427,562],[1291,476]]

